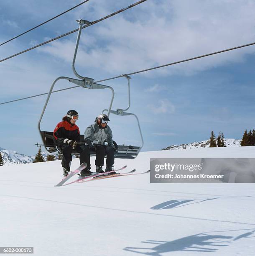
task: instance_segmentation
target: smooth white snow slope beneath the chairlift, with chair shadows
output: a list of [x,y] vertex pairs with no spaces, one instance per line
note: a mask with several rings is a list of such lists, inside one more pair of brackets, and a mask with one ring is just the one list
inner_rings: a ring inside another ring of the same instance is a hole
[[[142,152],[115,166],[143,172],[150,157],[254,153],[253,146]],[[254,255],[254,184],[150,184],[142,174],[54,187],[61,174],[61,161],[0,166],[1,246],[33,246],[36,256]]]

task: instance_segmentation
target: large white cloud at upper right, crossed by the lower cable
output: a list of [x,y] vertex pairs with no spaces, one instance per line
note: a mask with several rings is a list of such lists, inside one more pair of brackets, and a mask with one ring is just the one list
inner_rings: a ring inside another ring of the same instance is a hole
[[[248,0],[146,2],[140,6],[135,20],[117,15],[85,29],[82,38],[88,40],[82,39],[87,44],[80,47],[77,61],[86,67],[121,74],[246,44],[255,40],[254,12],[255,2]],[[107,6],[102,13],[107,13]],[[69,61],[73,47],[73,42],[59,41],[43,51]],[[245,54],[254,52],[255,47],[251,46],[163,68],[156,74],[189,75],[242,62]]]

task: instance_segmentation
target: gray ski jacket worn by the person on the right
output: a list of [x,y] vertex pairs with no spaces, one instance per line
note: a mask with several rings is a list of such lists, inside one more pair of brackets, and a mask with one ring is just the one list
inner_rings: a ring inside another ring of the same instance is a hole
[[105,129],[99,127],[97,123],[89,125],[84,133],[85,143],[92,146],[93,141],[98,141],[98,144],[104,145],[106,141],[108,146],[114,147],[112,143],[112,130],[106,125]]

